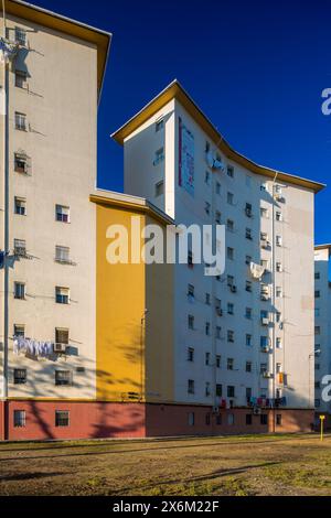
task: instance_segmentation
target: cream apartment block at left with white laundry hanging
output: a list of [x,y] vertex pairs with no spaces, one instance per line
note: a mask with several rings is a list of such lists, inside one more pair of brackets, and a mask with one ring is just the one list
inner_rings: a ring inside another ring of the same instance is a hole
[[17,54],[0,63],[0,432],[52,438],[70,410],[78,416],[96,398],[89,194],[110,34],[25,2],[4,6],[2,42]]

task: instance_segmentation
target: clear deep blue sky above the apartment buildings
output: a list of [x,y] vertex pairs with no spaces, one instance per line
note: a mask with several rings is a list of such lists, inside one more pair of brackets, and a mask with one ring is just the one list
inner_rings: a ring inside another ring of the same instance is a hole
[[178,78],[241,153],[330,188],[316,241],[330,242],[330,0],[31,0],[114,34],[98,121],[98,185],[122,190],[110,132]]

